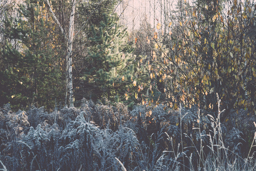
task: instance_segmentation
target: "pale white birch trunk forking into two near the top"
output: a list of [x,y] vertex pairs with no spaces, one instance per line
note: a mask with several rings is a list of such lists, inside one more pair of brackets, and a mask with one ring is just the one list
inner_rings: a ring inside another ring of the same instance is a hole
[[[64,32],[64,29],[62,25],[60,25],[60,22],[56,18],[56,15],[52,11],[52,7],[50,5],[49,0],[44,0],[47,5],[49,6],[49,10],[52,14],[52,17],[54,18],[55,22],[59,26],[60,30],[62,31],[62,34],[64,35],[65,40],[67,41],[67,52],[66,52],[66,99],[65,99],[65,106],[74,107],[74,100],[73,100],[73,83],[72,83],[72,44],[74,40],[74,25],[75,25],[75,6],[76,6],[76,0],[72,1],[71,6],[71,14],[70,14],[70,25],[68,27],[68,37],[66,33]],[[67,97],[68,96],[68,97]],[[68,99],[68,103],[67,103]]]

